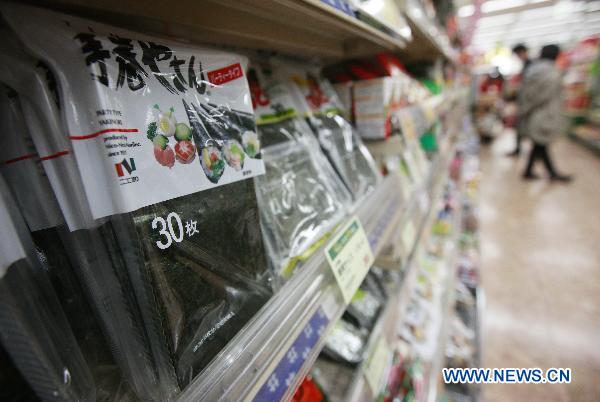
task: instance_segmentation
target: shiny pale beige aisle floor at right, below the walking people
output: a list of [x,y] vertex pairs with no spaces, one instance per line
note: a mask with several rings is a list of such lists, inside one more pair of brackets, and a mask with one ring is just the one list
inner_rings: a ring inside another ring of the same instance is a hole
[[483,365],[570,367],[572,383],[486,385],[484,400],[598,401],[600,158],[565,139],[551,152],[575,181],[524,182],[513,138],[482,151]]

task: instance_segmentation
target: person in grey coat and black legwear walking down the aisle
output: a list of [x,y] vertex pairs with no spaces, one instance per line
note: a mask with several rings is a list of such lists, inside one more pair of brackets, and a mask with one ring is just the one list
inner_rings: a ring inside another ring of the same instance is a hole
[[566,131],[563,117],[562,75],[555,67],[560,53],[557,45],[542,48],[539,60],[528,68],[519,93],[525,134],[533,140],[524,179],[537,179],[533,167],[541,159],[551,180],[568,182],[571,177],[558,173],[550,159],[550,143]]

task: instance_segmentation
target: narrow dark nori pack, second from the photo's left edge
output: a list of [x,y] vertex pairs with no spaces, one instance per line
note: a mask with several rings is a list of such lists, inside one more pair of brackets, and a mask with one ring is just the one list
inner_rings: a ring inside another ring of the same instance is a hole
[[92,371],[96,399],[114,399],[122,386],[121,374],[69,258],[67,250],[74,247],[71,234],[40,166],[16,93],[6,87],[0,90],[0,128],[7,136],[7,146],[0,149],[2,175],[18,200],[38,258],[45,262],[50,282]]

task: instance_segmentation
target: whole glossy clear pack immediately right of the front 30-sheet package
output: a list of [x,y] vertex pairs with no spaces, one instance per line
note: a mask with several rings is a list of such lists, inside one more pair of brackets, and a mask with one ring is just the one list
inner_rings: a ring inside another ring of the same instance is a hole
[[248,75],[266,168],[255,179],[262,228],[273,269],[285,279],[341,221],[351,198],[290,87],[259,63]]

